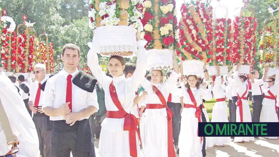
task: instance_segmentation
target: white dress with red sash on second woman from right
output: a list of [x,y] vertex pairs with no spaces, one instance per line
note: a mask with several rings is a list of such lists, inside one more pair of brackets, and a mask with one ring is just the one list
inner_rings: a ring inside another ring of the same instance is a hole
[[[241,82],[241,80],[238,78],[238,71],[233,73],[233,78],[235,80],[235,83],[237,85],[237,94],[239,96],[242,96],[244,94],[245,91],[246,94],[244,97],[248,96],[248,82]],[[249,103],[247,101],[247,99],[241,99],[241,100],[237,100],[238,101],[242,101],[242,113],[243,113],[243,122],[252,122],[252,117],[251,117],[251,111],[250,111],[250,106]],[[237,105],[237,102],[235,103]],[[236,122],[241,122],[240,120],[240,113],[239,113],[239,106],[237,106],[237,111],[236,111]],[[241,142],[241,141],[245,141],[245,142],[249,142],[249,141],[254,141],[254,137],[234,137],[234,142]]]

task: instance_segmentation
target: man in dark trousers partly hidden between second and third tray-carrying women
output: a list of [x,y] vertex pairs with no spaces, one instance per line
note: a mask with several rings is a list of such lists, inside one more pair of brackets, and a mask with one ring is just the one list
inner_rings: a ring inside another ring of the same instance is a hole
[[[166,72],[166,78],[168,79],[170,77],[172,71]],[[178,83],[178,82],[177,82]],[[177,86],[175,85],[169,94],[168,100],[167,100],[167,106],[172,111],[172,132],[173,132],[173,140],[175,149],[178,149],[178,137],[180,132],[180,122],[179,119],[181,118],[180,110],[181,110],[181,103],[179,98],[179,92],[180,92],[180,84]]]

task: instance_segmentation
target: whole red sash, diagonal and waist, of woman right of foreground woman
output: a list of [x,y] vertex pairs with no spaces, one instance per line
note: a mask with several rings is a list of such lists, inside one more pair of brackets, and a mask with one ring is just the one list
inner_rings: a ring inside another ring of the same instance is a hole
[[[155,94],[158,96],[162,104],[146,104],[147,109],[162,109],[166,108],[167,112],[167,121],[168,121],[168,157],[175,157],[175,148],[173,144],[173,133],[172,133],[172,112],[166,105],[166,99],[164,98],[161,91],[155,87],[152,86],[153,91],[156,90]],[[149,108],[150,107],[150,108]]]

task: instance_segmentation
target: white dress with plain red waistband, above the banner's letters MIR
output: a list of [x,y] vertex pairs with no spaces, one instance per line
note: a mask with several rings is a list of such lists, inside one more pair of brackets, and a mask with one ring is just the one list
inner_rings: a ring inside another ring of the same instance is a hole
[[[220,86],[221,85],[221,76],[216,76],[215,85],[213,87],[213,95],[216,99],[225,99],[226,92]],[[225,122],[228,123],[228,111],[226,101],[216,102],[212,110],[212,119],[211,122]],[[214,145],[223,146],[224,144],[229,144],[231,142],[230,137],[213,137]]]

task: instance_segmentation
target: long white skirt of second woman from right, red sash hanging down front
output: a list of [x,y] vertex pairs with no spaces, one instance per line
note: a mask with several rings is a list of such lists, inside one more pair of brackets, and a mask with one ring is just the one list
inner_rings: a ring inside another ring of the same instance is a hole
[[[248,101],[243,99],[241,100],[242,100],[243,122],[252,122],[251,111],[250,111],[250,106],[248,104]],[[236,111],[236,122],[240,122],[239,106],[237,106],[237,111]],[[241,142],[241,141],[249,142],[254,140],[255,140],[254,137],[234,137],[234,142]]]

